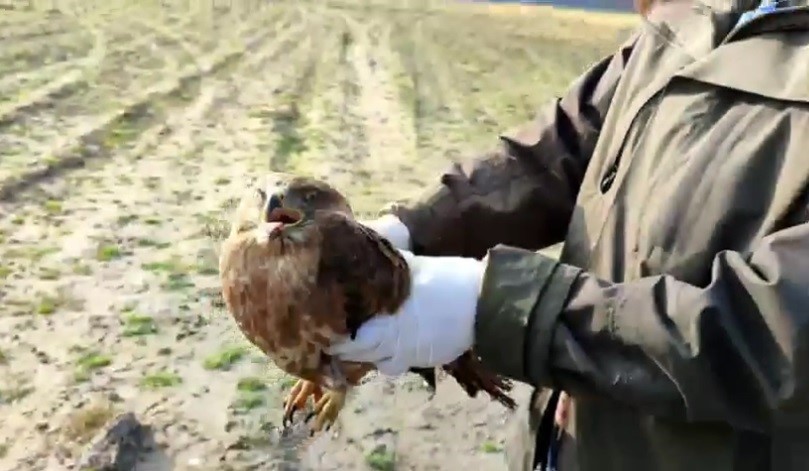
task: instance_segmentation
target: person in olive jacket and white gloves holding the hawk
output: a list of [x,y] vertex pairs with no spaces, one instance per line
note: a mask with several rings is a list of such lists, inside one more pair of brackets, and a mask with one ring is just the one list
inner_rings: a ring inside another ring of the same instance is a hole
[[535,120],[369,221],[412,293],[331,353],[399,375],[473,348],[535,387],[512,469],[547,465],[560,390],[582,471],[809,469],[809,6],[756,6],[652,4]]

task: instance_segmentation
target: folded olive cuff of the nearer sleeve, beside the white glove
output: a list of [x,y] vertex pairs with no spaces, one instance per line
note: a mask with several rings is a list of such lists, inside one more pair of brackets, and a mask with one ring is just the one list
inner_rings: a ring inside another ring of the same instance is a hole
[[514,380],[547,381],[556,320],[581,270],[528,250],[497,246],[487,256],[475,318],[475,353]]

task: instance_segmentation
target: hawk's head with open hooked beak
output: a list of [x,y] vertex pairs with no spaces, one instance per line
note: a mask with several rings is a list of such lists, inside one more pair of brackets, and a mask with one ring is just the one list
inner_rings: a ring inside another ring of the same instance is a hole
[[305,234],[314,222],[317,211],[339,211],[352,214],[345,197],[321,180],[295,177],[266,190],[259,189],[262,198],[263,222],[278,224],[274,233],[295,239]]

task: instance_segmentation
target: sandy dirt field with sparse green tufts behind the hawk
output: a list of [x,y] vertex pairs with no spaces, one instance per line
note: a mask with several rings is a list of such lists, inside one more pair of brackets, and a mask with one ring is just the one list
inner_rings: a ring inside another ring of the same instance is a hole
[[418,378],[377,378],[333,433],[281,437],[291,379],[217,291],[251,177],[328,178],[375,211],[631,26],[448,4],[2,2],[0,470],[75,469],[127,411],[155,432],[143,470],[504,469],[509,414],[451,380],[428,401]]

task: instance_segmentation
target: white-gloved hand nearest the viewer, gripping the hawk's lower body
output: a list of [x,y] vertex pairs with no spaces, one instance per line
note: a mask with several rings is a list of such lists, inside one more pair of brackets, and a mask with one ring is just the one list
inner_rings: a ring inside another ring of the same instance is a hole
[[352,341],[327,351],[342,361],[369,362],[388,376],[450,363],[472,347],[484,262],[421,257],[400,250],[410,266],[410,297],[393,315],[365,322]]

